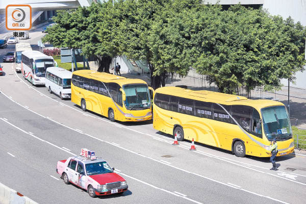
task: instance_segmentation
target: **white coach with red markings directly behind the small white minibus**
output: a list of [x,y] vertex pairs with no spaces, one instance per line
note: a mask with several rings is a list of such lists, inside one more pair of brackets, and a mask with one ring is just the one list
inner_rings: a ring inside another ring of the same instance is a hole
[[34,85],[45,85],[46,68],[57,66],[53,57],[38,51],[24,51],[21,54],[23,78]]

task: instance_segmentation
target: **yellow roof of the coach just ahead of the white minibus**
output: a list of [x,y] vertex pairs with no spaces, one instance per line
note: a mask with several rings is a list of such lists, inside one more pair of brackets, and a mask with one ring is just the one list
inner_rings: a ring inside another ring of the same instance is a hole
[[83,69],[78,71],[73,71],[73,74],[77,74],[81,77],[85,77],[88,79],[94,79],[101,82],[114,82],[119,84],[121,87],[126,84],[147,84],[145,81],[140,79],[126,79],[125,77],[119,77],[114,74],[105,73],[105,72],[97,72],[93,70]]

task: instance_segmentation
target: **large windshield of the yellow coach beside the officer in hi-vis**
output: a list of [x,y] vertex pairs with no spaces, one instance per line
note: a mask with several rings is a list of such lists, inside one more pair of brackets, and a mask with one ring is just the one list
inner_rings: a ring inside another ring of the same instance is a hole
[[292,130],[285,106],[262,109],[264,131],[269,141],[292,138]]

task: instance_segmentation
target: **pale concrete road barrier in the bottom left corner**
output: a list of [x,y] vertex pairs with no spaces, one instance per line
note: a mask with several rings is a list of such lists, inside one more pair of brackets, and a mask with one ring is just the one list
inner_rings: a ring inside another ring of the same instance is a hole
[[0,203],[1,204],[38,204],[27,196],[0,183]]

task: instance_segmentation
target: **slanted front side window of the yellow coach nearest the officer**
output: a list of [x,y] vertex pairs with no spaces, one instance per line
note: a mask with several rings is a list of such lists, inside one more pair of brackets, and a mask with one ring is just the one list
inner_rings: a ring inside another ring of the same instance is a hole
[[233,118],[239,123],[239,125],[247,132],[250,132],[253,108],[249,106],[233,105],[232,112]]

